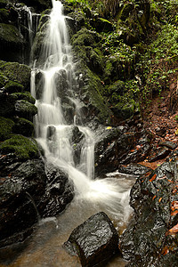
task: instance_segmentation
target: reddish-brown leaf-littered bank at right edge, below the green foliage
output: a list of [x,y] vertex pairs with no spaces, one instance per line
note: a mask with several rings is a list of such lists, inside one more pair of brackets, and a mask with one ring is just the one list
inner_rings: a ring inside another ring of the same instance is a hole
[[[174,142],[178,145],[178,82],[173,78],[166,91],[154,97],[142,112],[144,128],[153,136],[153,146],[159,142]],[[145,159],[141,164],[155,169],[166,158],[155,162]]]

